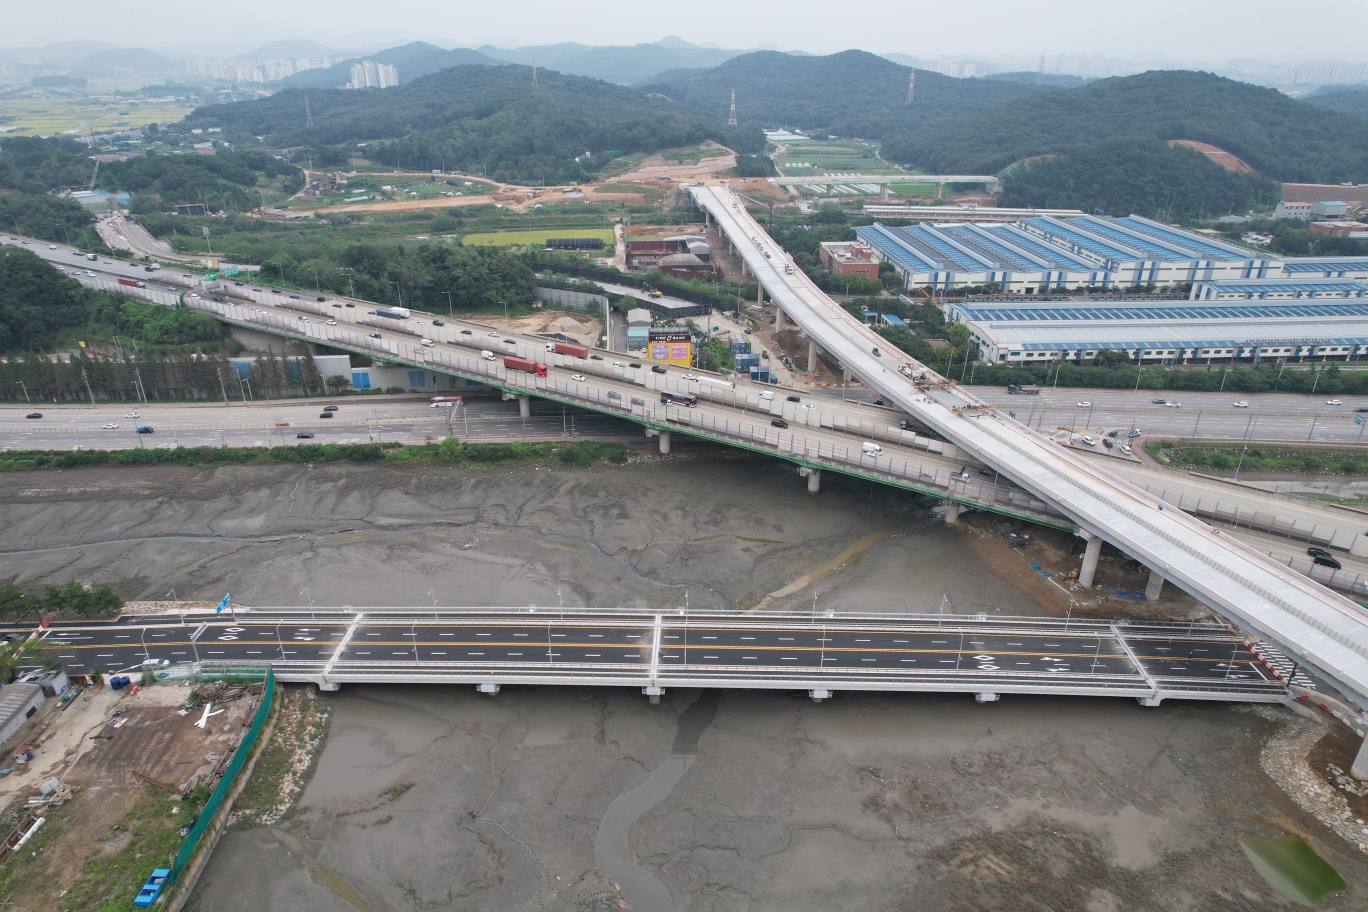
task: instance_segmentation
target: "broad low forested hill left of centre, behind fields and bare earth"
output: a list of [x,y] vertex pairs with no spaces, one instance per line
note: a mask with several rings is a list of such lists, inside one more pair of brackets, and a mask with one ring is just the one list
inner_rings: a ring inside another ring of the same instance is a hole
[[531,68],[520,66],[451,67],[394,89],[309,92],[308,101],[313,127],[301,90],[200,108],[185,124],[274,146],[371,142],[371,157],[384,164],[549,183],[591,178],[622,153],[705,139],[741,153],[765,145],[758,129],[598,79],[540,71],[532,86]]

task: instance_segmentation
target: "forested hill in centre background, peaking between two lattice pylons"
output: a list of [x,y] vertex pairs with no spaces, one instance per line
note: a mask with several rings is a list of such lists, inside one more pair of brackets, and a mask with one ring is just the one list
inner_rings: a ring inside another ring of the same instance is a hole
[[761,51],[709,70],[662,72],[640,83],[725,118],[732,89],[741,123],[787,126],[880,139],[918,127],[937,129],[993,105],[1040,92],[1010,79],[952,79],[917,71],[917,94],[907,104],[911,70],[865,51],[799,57]]

